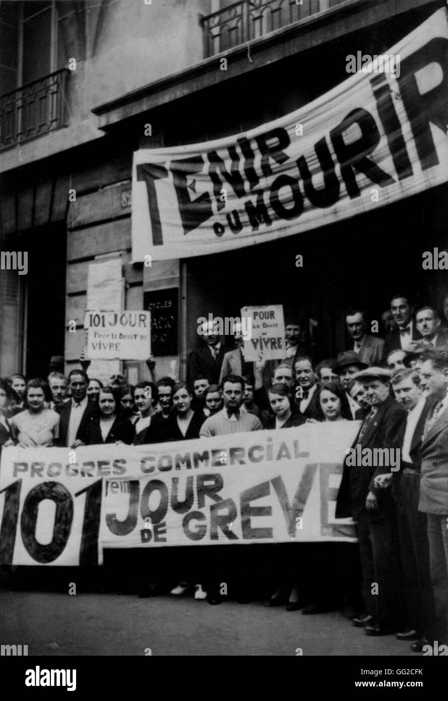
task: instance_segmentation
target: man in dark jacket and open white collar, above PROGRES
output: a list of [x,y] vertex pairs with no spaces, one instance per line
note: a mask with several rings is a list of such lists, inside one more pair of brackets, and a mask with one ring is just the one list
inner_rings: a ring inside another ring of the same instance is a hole
[[88,383],[89,378],[84,370],[71,370],[69,373],[71,400],[56,407],[56,411],[61,417],[57,440],[57,445],[60,447],[78,447],[82,442],[80,436],[85,433],[90,417],[97,411],[87,401]]

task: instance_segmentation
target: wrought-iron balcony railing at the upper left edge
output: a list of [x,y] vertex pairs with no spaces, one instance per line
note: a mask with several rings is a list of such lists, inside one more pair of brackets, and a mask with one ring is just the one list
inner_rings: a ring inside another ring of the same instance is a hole
[[66,79],[63,68],[0,97],[0,150],[66,126]]

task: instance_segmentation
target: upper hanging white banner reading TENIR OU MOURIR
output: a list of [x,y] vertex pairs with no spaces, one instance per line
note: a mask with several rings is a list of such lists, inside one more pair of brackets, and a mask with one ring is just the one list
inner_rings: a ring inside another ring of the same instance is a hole
[[137,151],[132,260],[290,236],[447,181],[445,11],[387,54],[398,57],[395,76],[380,60],[359,62],[330,92],[251,131]]

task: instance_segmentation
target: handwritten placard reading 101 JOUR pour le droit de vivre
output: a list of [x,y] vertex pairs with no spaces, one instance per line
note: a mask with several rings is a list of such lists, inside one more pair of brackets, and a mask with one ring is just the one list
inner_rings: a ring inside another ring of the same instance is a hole
[[86,311],[86,358],[146,360],[151,355],[151,313]]

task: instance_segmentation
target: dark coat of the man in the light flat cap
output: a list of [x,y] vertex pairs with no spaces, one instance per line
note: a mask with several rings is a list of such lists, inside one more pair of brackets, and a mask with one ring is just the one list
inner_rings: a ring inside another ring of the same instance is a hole
[[[392,396],[389,396],[379,407],[377,414],[365,431],[361,443],[359,435],[364,422],[360,426],[351,448],[356,449],[359,443],[361,450],[365,448],[395,448],[398,428],[405,416],[405,409]],[[379,512],[377,515],[381,516],[381,513],[387,510],[392,497],[389,490],[379,490],[374,487],[373,480],[377,475],[389,472],[389,468],[384,465],[376,468],[362,465],[351,466],[346,464],[346,460],[347,458],[344,461],[342,480],[337,492],[336,518],[351,516],[356,521],[358,516],[365,511],[365,499],[369,491],[373,491],[378,498]]]

